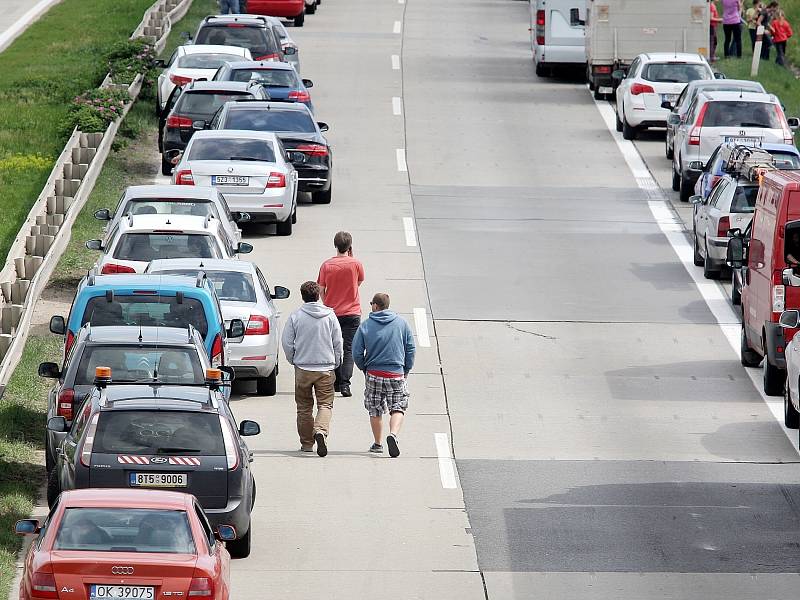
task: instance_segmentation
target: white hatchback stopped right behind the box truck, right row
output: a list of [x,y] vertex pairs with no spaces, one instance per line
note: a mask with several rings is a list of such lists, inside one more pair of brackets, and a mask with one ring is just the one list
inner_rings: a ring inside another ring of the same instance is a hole
[[[624,75],[624,76],[623,76]],[[633,59],[627,74],[612,74],[617,87],[617,131],[626,140],[636,139],[640,130],[666,127],[671,109],[686,84],[714,79],[714,71],[699,54],[654,52]]]

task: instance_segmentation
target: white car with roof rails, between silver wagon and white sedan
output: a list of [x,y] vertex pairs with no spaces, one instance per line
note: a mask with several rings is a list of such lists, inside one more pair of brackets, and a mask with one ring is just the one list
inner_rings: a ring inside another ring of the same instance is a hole
[[219,220],[193,215],[128,215],[108,235],[108,243],[89,240],[100,250],[97,272],[144,273],[150,261],[163,258],[236,258],[253,246],[234,242]]

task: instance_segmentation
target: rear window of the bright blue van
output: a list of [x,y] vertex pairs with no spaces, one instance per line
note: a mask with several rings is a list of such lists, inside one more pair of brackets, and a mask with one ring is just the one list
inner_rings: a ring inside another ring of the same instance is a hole
[[[186,298],[178,304],[175,296],[114,294],[108,302],[105,295],[90,298],[81,319],[81,326],[91,323],[95,327],[115,325],[141,325],[197,329],[204,338],[208,321],[203,304],[196,298]],[[111,365],[104,365],[111,366]]]

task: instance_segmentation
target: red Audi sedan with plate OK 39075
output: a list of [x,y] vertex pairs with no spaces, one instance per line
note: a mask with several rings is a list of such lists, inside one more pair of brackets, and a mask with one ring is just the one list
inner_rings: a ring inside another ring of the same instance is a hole
[[190,494],[163,490],[64,492],[43,524],[18,521],[36,535],[25,558],[20,600],[228,600],[235,530],[212,531]]

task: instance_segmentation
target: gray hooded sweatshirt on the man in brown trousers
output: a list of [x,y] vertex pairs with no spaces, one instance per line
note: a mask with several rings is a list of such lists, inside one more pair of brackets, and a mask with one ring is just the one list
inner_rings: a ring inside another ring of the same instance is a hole
[[288,363],[306,371],[333,371],[342,364],[342,328],[321,302],[306,302],[289,315],[281,344]]

